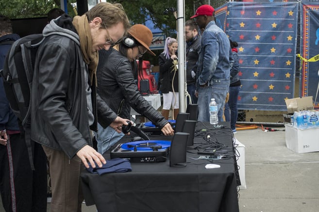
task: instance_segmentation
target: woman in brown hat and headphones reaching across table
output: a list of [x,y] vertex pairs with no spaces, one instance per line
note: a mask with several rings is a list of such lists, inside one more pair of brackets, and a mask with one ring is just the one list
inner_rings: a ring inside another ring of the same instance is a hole
[[[121,118],[130,119],[131,107],[148,118],[166,136],[173,136],[169,122],[146,101],[137,88],[138,74],[142,73],[143,54],[151,51],[152,32],[146,26],[136,24],[128,30],[128,36],[114,44],[109,51],[99,52],[97,70],[98,94]],[[138,65],[137,61],[138,60]],[[103,123],[103,120],[99,120]],[[124,136],[112,127],[99,124],[96,139],[98,151],[104,153]]]

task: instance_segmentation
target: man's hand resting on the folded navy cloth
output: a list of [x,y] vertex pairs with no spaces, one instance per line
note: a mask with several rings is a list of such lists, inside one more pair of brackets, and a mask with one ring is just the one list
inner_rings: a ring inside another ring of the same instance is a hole
[[82,147],[76,155],[82,160],[86,168],[89,167],[87,162],[89,162],[93,168],[96,167],[94,162],[96,162],[99,167],[102,167],[102,164],[106,164],[104,157],[89,145]]

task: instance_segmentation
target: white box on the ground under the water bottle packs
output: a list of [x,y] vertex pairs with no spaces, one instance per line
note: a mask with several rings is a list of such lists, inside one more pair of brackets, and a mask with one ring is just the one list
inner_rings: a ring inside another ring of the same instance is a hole
[[319,151],[319,128],[298,129],[285,124],[286,146],[297,153]]

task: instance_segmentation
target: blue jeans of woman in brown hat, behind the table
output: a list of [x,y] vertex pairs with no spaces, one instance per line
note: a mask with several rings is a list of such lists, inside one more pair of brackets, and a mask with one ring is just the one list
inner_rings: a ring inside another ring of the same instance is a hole
[[98,142],[98,152],[103,154],[109,150],[114,144],[124,136],[124,133],[118,133],[112,127],[108,126],[105,129],[98,123],[98,132],[94,132]]

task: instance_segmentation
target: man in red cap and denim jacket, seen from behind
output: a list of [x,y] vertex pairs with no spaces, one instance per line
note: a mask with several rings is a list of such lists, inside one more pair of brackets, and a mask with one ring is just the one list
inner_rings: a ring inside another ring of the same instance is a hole
[[234,62],[229,39],[216,25],[214,11],[212,6],[204,4],[190,17],[195,18],[200,29],[204,29],[196,73],[198,121],[209,121],[211,98],[215,98],[218,105],[218,120],[223,120],[223,108],[230,84],[230,68]]

